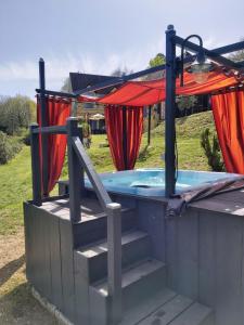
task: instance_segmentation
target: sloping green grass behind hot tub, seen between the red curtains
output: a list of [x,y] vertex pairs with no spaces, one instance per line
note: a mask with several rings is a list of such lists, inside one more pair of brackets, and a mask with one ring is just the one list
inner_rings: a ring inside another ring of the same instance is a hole
[[[178,118],[177,142],[179,151],[179,168],[208,170],[207,159],[200,145],[201,132],[209,128],[215,132],[215,125],[211,112],[204,112],[183,118]],[[160,123],[152,131],[151,146],[146,146],[147,134],[144,133],[140,155],[136,168],[141,167],[164,167],[162,154],[164,153],[165,125]],[[108,147],[99,147],[104,143],[104,135],[92,138],[92,146],[89,155],[99,171],[114,170]]]

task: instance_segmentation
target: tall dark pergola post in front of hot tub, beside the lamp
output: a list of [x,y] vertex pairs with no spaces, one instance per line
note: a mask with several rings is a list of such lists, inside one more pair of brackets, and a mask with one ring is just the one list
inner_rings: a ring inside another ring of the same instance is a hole
[[176,187],[176,30],[166,30],[166,102],[165,102],[165,196],[175,194]]

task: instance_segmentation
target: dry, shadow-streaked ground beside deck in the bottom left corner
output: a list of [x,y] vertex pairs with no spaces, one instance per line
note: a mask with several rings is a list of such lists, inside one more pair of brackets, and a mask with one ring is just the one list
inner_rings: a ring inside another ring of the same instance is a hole
[[0,235],[0,324],[57,324],[33,297],[26,282],[23,230],[15,235]]

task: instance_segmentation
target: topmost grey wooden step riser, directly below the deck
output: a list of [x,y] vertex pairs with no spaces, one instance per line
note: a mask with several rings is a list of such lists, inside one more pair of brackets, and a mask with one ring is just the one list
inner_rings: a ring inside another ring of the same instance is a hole
[[[75,247],[86,246],[106,238],[106,214],[99,212],[94,216],[82,218],[81,222],[74,224]],[[134,210],[131,208],[121,209],[121,231],[128,232],[138,226]]]

